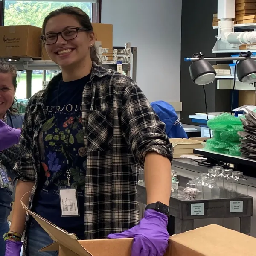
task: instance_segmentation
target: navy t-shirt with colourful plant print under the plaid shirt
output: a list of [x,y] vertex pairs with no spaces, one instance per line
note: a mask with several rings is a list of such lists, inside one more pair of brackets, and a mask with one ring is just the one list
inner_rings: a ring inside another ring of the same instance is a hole
[[[46,101],[47,119],[39,135],[43,175],[40,177],[33,207],[37,214],[76,234],[79,239],[84,239],[84,184],[87,166],[81,102],[84,86],[89,80],[90,75],[76,81],[61,81],[59,90],[56,86],[49,92]],[[76,186],[78,192],[80,216],[76,217],[61,217],[59,186],[67,186],[67,169],[71,171],[70,186]]]

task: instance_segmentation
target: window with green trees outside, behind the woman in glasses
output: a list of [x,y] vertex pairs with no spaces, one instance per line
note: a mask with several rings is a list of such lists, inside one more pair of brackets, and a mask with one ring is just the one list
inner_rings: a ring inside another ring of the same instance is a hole
[[[4,2],[3,2],[4,1]],[[44,18],[49,12],[63,6],[77,6],[86,12],[92,22],[100,21],[101,0],[73,0],[62,1],[20,1],[20,0],[0,0],[0,20],[4,26],[10,25],[32,25],[41,27]],[[2,9],[2,8],[3,9]],[[3,13],[3,15],[1,15]],[[3,17],[2,17],[3,16]],[[1,57],[1,56],[0,56]],[[46,81],[55,74],[55,70],[47,70]],[[18,72],[20,81],[16,90],[17,99],[26,98],[26,71]],[[32,71],[32,95],[43,88],[43,71]]]

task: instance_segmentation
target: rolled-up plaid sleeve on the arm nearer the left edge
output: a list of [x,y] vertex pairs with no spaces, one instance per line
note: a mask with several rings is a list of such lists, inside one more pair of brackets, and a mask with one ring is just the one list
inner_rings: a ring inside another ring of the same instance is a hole
[[[28,111],[26,111],[28,112]],[[20,135],[20,157],[14,166],[14,172],[16,173],[17,177],[15,180],[19,179],[22,181],[35,181],[35,168],[33,164],[33,157],[32,157],[32,140],[29,136],[29,116],[28,113],[25,114],[25,120],[23,122],[22,132]]]

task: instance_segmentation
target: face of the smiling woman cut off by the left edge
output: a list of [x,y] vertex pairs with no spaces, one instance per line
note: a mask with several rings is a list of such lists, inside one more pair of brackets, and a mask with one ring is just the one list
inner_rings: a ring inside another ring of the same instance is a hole
[[12,106],[15,89],[12,84],[11,73],[0,73],[0,118]]

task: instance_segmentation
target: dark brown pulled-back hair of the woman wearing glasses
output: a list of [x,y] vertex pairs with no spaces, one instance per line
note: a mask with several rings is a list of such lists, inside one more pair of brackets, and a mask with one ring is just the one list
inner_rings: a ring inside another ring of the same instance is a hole
[[[61,15],[61,14],[69,14],[76,18],[76,20],[81,24],[81,26],[88,31],[93,31],[92,23],[90,22],[90,17],[85,13],[82,9],[75,7],[75,6],[64,6],[60,9],[54,10],[50,12],[44,19],[43,26],[42,26],[42,34],[45,34],[45,26],[49,19]],[[90,47],[90,57],[91,60],[96,62],[96,64],[100,64],[101,61],[98,58],[96,47]]]

